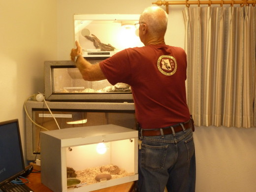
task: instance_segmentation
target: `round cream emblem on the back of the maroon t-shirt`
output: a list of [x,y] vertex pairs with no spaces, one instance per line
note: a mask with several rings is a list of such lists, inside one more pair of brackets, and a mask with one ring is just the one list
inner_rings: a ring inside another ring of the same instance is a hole
[[162,55],[158,59],[158,69],[164,75],[173,75],[177,70],[177,62],[172,56]]

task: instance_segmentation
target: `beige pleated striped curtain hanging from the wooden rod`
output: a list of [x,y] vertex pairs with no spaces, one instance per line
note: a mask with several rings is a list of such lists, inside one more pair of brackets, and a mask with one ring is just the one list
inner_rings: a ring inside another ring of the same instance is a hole
[[183,18],[195,125],[256,127],[256,7],[186,7]]

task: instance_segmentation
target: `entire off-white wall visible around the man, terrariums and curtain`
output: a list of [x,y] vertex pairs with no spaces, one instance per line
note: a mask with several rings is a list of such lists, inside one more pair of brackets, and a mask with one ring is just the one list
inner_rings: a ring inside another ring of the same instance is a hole
[[[43,92],[44,61],[69,60],[73,14],[140,14],[152,1],[0,0],[0,121],[18,118],[24,141],[23,103]],[[184,48],[183,8],[169,8],[165,40]],[[255,128],[196,128],[196,192],[255,192],[255,135]]]

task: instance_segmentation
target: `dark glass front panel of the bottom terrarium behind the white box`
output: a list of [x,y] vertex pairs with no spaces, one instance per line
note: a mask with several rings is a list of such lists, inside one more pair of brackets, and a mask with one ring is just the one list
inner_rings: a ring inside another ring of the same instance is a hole
[[[129,112],[100,112],[100,111],[55,111],[52,110],[60,128],[76,128],[99,125],[118,125],[135,129],[134,113]],[[49,111],[34,110],[35,122],[49,130],[57,130],[58,126]],[[40,132],[45,129],[33,125],[32,141],[33,154],[40,154]]]

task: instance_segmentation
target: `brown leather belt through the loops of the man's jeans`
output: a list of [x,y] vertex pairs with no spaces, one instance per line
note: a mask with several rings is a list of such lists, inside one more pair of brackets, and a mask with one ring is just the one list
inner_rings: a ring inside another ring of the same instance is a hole
[[[185,129],[189,129],[189,128],[192,128],[192,125],[191,125],[191,121],[187,121],[185,123],[181,123]],[[182,128],[182,125],[181,124],[176,124],[174,126],[168,126],[166,128],[162,128],[162,131],[163,131],[163,134],[164,135],[167,135],[167,134],[172,134],[172,129],[171,127],[173,127],[174,129],[174,132],[180,132],[183,130]],[[157,135],[161,135],[161,131],[160,131],[160,128],[158,129],[141,129],[142,131],[142,136],[157,136]]]

